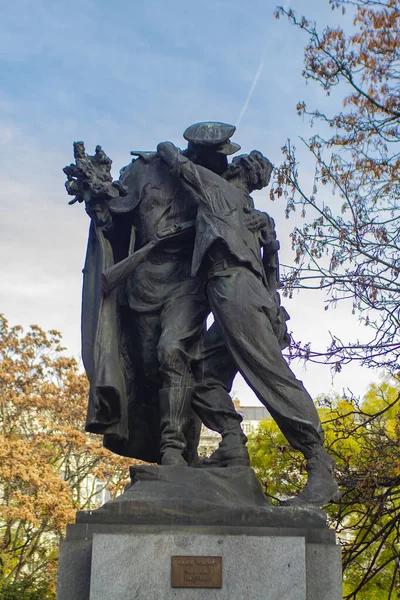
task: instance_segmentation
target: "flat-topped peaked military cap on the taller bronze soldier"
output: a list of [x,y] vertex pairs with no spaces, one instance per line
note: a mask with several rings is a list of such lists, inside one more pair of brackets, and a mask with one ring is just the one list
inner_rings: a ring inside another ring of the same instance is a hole
[[221,154],[234,154],[240,150],[239,144],[231,142],[229,139],[235,131],[234,125],[205,121],[190,125],[184,131],[183,137],[193,146],[214,146],[215,150]]

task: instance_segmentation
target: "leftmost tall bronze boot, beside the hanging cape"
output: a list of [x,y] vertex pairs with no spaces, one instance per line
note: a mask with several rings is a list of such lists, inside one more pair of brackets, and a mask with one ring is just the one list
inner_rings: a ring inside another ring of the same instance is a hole
[[184,430],[190,414],[192,388],[163,388],[159,397],[161,464],[187,466],[183,457],[186,448]]

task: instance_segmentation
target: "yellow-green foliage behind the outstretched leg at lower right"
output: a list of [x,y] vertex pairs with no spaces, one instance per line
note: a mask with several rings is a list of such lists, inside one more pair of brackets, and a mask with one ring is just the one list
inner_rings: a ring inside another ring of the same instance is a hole
[[[342,498],[325,507],[342,546],[344,598],[395,600],[400,592],[400,382],[355,398],[320,398],[326,448]],[[249,441],[252,466],[273,503],[305,483],[303,457],[272,419]]]

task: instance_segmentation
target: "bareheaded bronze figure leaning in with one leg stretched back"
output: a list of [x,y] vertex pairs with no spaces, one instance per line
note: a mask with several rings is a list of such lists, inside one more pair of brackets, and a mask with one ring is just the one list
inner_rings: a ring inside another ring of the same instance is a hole
[[[324,449],[322,425],[313,401],[282,357],[285,315],[276,290],[268,285],[260,236],[250,231],[248,219],[245,221],[253,208],[249,193],[268,184],[272,165],[253,151],[234,159],[221,178],[210,170],[211,160],[209,168],[195,165],[170,142],[159,144],[157,152],[198,204],[192,275],[200,274],[204,279],[224,342],[215,344],[218,335],[213,332],[209,341],[206,334],[206,354],[196,369],[193,407],[207,427],[222,435],[219,448],[205,464],[249,464],[246,439],[228,394],[234,369],[227,369],[225,382],[217,374],[221,365],[229,365],[229,354],[291,446],[307,459],[306,487],[287,503],[326,504],[339,494],[332,475],[334,461]],[[261,217],[258,224],[254,219],[252,229],[258,227],[271,228],[268,216]]]

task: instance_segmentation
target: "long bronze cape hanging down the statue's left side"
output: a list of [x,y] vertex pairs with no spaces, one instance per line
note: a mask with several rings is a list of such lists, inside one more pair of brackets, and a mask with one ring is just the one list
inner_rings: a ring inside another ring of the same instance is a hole
[[[136,162],[136,161],[135,161]],[[121,212],[132,209],[127,206]],[[83,270],[82,359],[90,383],[86,431],[104,436],[116,454],[158,462],[158,407],[149,406],[140,373],[129,360],[129,315],[119,301],[120,290],[104,297],[100,276],[114,264],[110,241],[93,222]]]

